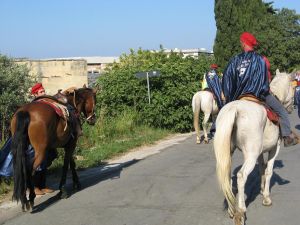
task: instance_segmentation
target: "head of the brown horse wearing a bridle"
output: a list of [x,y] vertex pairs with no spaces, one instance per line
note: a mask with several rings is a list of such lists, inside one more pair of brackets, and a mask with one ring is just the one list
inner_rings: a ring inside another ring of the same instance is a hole
[[80,114],[82,113],[84,120],[90,125],[96,123],[96,93],[96,89],[87,88],[85,86],[66,93],[69,104],[73,105]]

